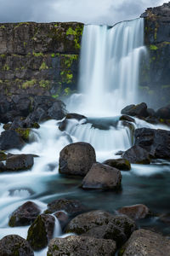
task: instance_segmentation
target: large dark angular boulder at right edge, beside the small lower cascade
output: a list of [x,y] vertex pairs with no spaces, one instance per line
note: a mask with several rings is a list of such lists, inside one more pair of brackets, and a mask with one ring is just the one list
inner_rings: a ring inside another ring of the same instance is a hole
[[135,145],[144,148],[155,158],[170,159],[170,131],[150,128],[137,129]]

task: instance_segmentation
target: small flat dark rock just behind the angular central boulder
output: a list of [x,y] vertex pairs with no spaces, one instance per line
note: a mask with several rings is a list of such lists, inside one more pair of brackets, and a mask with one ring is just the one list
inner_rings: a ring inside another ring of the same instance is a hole
[[130,171],[131,165],[130,162],[126,159],[110,159],[105,160],[104,165],[115,167],[121,171]]

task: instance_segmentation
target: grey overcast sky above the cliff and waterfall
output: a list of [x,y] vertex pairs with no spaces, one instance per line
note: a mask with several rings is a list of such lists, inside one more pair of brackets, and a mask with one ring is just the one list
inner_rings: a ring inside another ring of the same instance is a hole
[[0,22],[82,21],[115,24],[166,0],[0,0]]

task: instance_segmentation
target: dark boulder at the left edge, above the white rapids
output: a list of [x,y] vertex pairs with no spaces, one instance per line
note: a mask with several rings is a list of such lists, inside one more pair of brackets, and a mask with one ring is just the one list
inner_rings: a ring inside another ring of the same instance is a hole
[[25,142],[16,131],[3,131],[0,136],[0,149],[8,150],[12,148],[21,149]]

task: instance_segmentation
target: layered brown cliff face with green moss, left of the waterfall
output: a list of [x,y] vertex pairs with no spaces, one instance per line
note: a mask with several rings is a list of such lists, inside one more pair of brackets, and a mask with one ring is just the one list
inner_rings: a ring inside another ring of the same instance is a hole
[[83,25],[0,25],[0,94],[68,95],[77,84]]

